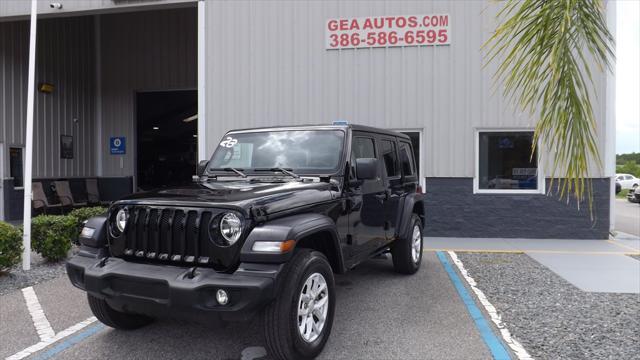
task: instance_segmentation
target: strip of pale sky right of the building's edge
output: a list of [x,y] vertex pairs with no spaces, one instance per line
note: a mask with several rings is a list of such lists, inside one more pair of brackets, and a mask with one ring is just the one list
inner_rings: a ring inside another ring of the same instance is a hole
[[616,154],[640,152],[640,0],[616,3]]

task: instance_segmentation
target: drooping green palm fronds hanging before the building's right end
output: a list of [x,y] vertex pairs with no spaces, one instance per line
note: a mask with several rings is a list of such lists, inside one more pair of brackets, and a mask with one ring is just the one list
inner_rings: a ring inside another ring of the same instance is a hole
[[495,80],[503,82],[504,95],[537,117],[532,155],[538,144],[546,148],[560,197],[569,201],[573,194],[580,204],[586,192],[590,209],[589,158],[601,167],[591,67],[610,70],[613,59],[603,2],[508,0],[484,45],[487,62],[502,59]]

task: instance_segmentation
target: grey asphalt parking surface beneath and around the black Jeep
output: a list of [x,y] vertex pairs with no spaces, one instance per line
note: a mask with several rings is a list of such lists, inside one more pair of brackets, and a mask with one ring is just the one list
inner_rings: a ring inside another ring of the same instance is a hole
[[[492,358],[487,334],[478,330],[469,304],[465,305],[449,276],[433,252],[425,253],[423,266],[414,276],[394,273],[390,259],[371,260],[337,276],[336,319],[320,358]],[[92,316],[84,293],[73,288],[66,276],[33,289],[56,334]],[[21,291],[0,297],[0,358],[39,342],[32,320]],[[259,320],[223,328],[161,320],[129,332],[92,322],[30,358],[124,357],[269,359]]]

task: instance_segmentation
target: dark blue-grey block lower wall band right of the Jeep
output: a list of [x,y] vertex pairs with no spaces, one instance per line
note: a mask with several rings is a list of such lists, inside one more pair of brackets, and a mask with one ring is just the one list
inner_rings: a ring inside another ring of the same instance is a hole
[[472,178],[427,178],[425,235],[607,239],[609,179],[592,181],[593,220],[586,201],[578,209],[557,195],[474,194]]

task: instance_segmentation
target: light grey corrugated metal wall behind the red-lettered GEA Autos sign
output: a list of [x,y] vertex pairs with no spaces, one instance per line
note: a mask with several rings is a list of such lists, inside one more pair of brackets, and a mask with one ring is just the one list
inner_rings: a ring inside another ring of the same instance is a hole
[[[475,128],[531,127],[494,88],[481,45],[493,1],[208,1],[207,150],[238,127],[346,119],[423,129],[427,177],[473,177]],[[329,18],[450,15],[451,45],[325,50]],[[604,152],[606,76],[595,75]],[[602,176],[592,167],[592,176]]]

